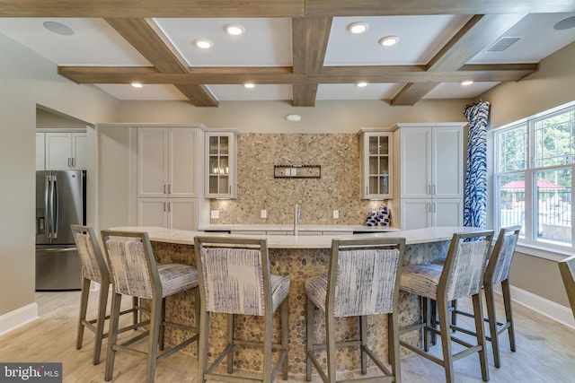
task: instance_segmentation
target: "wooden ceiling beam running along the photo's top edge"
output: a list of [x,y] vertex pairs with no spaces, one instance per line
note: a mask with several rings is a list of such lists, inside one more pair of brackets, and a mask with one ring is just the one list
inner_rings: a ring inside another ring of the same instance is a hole
[[571,13],[572,0],[0,0],[0,17],[303,17]]

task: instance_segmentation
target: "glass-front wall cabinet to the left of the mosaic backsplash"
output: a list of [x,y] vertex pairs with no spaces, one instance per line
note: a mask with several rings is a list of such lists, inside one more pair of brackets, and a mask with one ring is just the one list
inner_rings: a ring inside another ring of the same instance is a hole
[[212,129],[206,132],[205,196],[237,196],[237,131]]

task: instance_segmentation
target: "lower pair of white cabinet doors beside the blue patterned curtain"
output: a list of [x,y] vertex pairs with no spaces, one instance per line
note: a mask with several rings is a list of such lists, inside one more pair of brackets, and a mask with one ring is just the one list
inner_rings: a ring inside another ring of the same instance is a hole
[[463,201],[459,198],[403,198],[401,209],[402,230],[463,226]]

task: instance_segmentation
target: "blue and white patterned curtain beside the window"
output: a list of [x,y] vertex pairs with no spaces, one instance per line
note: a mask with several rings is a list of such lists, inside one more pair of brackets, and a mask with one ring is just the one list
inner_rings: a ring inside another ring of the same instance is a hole
[[487,121],[490,104],[468,105],[469,121],[467,169],[465,171],[464,226],[484,228],[487,213]]

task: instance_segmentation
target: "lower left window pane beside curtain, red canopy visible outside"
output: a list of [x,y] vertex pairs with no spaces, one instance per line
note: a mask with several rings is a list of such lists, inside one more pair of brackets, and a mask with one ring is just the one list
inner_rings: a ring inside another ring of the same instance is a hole
[[521,225],[525,230],[525,174],[498,177],[500,193],[500,227]]

